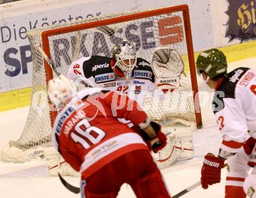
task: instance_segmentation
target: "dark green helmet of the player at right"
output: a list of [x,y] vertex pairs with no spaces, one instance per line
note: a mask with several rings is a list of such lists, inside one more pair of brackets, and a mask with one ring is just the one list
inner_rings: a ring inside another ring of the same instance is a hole
[[205,72],[211,79],[227,73],[226,56],[218,49],[206,50],[197,57],[197,74]]

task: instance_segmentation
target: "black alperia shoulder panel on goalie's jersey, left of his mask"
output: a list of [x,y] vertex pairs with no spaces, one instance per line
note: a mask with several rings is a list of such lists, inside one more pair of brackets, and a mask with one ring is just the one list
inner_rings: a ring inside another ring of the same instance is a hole
[[86,78],[95,75],[101,75],[113,72],[111,68],[111,57],[91,56],[90,59],[84,61],[83,71]]

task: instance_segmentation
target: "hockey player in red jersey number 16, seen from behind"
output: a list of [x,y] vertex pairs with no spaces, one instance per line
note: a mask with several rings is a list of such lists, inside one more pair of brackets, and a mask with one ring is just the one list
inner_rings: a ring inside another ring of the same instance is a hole
[[[170,197],[149,152],[162,149],[166,137],[137,102],[100,88],[86,88],[72,97],[72,82],[62,75],[49,81],[48,94],[51,101],[62,102],[52,143],[81,173],[82,197],[116,197],[124,183],[137,197]],[[118,118],[131,120],[135,127]]]

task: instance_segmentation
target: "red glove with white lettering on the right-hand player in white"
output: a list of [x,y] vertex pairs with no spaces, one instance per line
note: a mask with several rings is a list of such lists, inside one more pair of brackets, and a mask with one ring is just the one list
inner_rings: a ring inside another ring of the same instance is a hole
[[223,167],[223,160],[215,157],[212,153],[205,155],[201,169],[202,188],[207,189],[208,185],[221,182],[221,168]]

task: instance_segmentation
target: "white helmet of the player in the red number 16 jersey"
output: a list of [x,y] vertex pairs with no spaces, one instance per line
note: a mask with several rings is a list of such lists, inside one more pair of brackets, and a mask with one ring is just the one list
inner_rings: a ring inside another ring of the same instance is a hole
[[62,104],[72,98],[73,90],[76,90],[73,81],[63,75],[56,76],[48,82],[49,99],[57,108],[60,108]]

